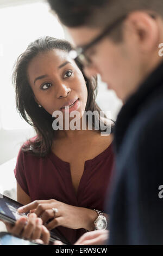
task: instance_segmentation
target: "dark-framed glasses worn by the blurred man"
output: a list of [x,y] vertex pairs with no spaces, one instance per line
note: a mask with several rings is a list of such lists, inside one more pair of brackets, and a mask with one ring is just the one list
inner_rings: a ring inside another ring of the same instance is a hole
[[70,57],[73,59],[77,59],[80,64],[82,64],[82,66],[90,66],[91,60],[88,56],[86,56],[85,52],[93,45],[99,43],[99,41],[101,41],[106,35],[108,35],[112,31],[112,29],[114,29],[119,23],[125,20],[127,16],[128,15],[123,15],[114,23],[106,27],[104,31],[99,34],[95,39],[93,39],[89,44],[85,45],[84,47],[76,47],[76,49],[71,50],[69,52]]

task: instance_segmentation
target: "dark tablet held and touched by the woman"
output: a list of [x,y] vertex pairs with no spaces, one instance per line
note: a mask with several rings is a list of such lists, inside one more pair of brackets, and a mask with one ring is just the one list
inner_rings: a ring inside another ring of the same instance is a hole
[[[22,216],[27,216],[28,212],[17,212],[17,209],[21,206],[22,204],[18,203],[17,201],[10,199],[3,194],[0,194],[0,219],[14,224]],[[50,242],[60,240],[65,245],[71,245],[71,243],[66,239],[66,237],[63,234],[60,233],[59,230],[53,229],[52,231],[50,231],[50,234]]]

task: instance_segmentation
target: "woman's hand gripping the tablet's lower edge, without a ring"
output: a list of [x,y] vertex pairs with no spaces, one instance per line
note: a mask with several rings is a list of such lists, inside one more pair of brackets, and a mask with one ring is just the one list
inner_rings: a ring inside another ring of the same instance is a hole
[[49,231],[42,225],[42,219],[37,218],[35,213],[30,214],[28,218],[21,217],[15,224],[4,222],[9,233],[21,236],[25,239],[41,239],[43,243],[48,244]]

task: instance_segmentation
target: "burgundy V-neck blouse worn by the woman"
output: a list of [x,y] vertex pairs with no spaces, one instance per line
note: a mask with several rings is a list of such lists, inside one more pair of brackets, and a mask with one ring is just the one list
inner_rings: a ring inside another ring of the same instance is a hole
[[[111,144],[95,158],[85,161],[77,196],[72,184],[70,164],[53,152],[45,158],[38,158],[20,149],[14,169],[15,177],[32,201],[55,199],[69,205],[104,211],[106,189],[114,165],[112,148]],[[85,233],[85,229],[57,229],[71,243]]]

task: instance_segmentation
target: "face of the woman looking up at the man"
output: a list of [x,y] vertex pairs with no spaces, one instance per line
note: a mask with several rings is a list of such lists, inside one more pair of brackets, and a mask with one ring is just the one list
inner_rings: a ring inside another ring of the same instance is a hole
[[87,88],[82,72],[67,52],[54,49],[39,53],[29,63],[27,74],[37,104],[49,114],[77,110],[82,117]]

